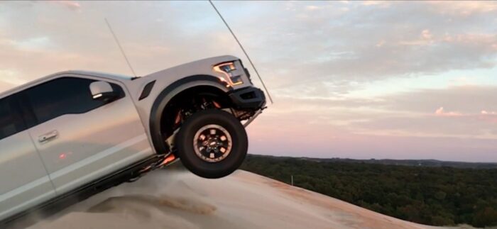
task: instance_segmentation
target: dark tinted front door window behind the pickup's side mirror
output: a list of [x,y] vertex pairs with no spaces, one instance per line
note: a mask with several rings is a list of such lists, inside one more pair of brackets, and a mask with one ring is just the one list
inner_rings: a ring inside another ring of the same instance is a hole
[[[31,101],[33,112],[38,123],[49,121],[70,113],[86,113],[105,104],[104,101],[92,98],[89,84],[93,79],[62,77],[50,82],[34,86],[26,90]],[[119,92],[119,99],[124,97],[120,86],[111,84],[114,91]]]

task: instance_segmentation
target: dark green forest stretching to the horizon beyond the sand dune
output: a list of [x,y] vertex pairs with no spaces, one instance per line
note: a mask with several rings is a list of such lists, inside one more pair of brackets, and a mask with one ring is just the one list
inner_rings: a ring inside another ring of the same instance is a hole
[[241,169],[427,225],[497,225],[497,169],[249,155]]

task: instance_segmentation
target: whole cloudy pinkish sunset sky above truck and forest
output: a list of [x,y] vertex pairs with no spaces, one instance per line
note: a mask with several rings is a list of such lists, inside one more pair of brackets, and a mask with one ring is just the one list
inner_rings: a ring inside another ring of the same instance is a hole
[[[250,153],[497,162],[497,2],[214,4],[275,101]],[[207,1],[1,1],[0,91],[67,69],[131,75],[104,18],[138,75],[249,63]]]

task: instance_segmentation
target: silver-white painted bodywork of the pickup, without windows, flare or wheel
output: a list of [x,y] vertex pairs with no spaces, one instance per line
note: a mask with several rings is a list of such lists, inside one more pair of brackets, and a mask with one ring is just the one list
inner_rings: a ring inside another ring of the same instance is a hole
[[[229,55],[212,57],[139,78],[87,71],[58,72],[0,94],[0,99],[21,97],[23,91],[63,77],[109,82],[124,91],[122,99],[110,104],[85,113],[64,114],[0,138],[0,220],[158,153],[151,140],[150,119],[161,92],[174,82],[195,75],[208,75],[223,82],[226,76],[214,71],[213,66],[236,60],[239,59]],[[243,85],[221,89],[226,92],[251,86],[249,77],[242,77]],[[150,94],[139,99],[146,84],[153,81]],[[212,84],[186,82],[170,91],[166,99],[190,86]]]

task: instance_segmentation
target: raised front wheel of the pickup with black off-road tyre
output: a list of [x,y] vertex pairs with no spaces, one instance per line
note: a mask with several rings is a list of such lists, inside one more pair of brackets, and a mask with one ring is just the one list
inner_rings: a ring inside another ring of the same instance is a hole
[[194,174],[225,177],[244,161],[249,147],[240,121],[226,111],[199,111],[183,123],[175,138],[178,157]]

